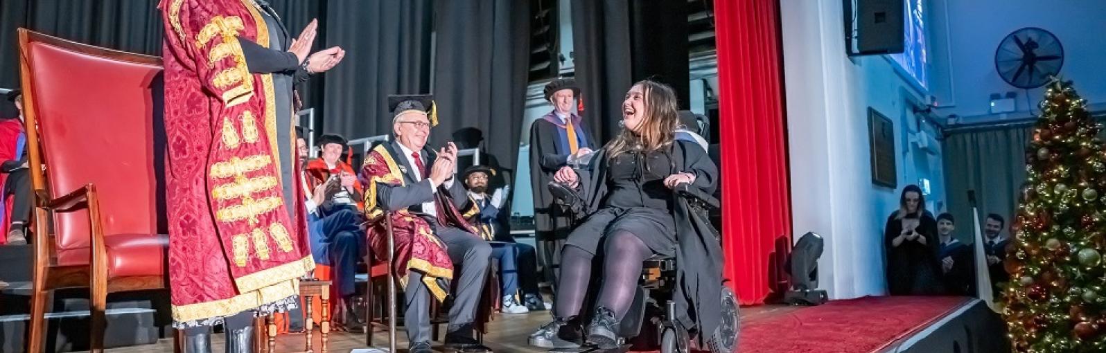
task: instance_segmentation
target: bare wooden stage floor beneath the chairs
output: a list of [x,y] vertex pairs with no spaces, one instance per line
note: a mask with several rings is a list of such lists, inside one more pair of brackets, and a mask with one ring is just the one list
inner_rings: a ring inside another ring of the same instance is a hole
[[[741,311],[742,320],[754,320],[758,317],[772,317],[781,314],[784,312],[790,312],[796,310],[796,307],[786,306],[763,306],[755,308],[744,308]],[[489,323],[489,334],[484,336],[486,344],[494,350],[495,352],[534,352],[534,353],[545,353],[547,350],[531,347],[526,344],[526,338],[538,330],[539,327],[549,322],[551,320],[549,311],[536,311],[526,314],[497,314],[495,320]],[[442,325],[442,331],[445,331],[445,325]],[[317,330],[317,329],[316,329]],[[407,340],[403,328],[399,328],[399,332],[396,333],[398,336],[399,344],[397,344],[398,352],[406,352]],[[319,331],[312,334],[314,341],[314,349],[316,352],[320,351],[320,335]],[[276,352],[303,352],[304,349],[304,335],[303,334],[288,334],[276,338]],[[223,351],[223,335],[215,334],[211,340],[211,351],[222,352]],[[357,333],[346,333],[346,332],[331,332],[330,334],[330,351],[331,352],[349,352],[353,349],[365,347],[365,335]],[[373,343],[378,345],[387,344],[387,332],[377,332],[373,339]],[[436,345],[440,345],[441,342],[435,342]],[[108,353],[153,353],[153,352],[173,352],[173,339],[161,339],[157,344],[137,345],[128,347],[108,349],[105,350]]]

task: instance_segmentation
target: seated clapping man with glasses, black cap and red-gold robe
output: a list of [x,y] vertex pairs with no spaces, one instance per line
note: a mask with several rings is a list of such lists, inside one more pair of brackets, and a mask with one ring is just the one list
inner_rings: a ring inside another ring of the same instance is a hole
[[[457,280],[449,309],[446,346],[487,352],[473,338],[477,304],[487,278],[491,246],[465,222],[458,207],[468,201],[456,182],[457,146],[435,151],[426,147],[438,124],[429,95],[389,96],[395,139],[365,156],[361,179],[365,185],[365,216],[369,247],[386,254],[384,217],[392,220],[395,274],[404,286],[404,325],[411,353],[430,353],[430,296],[446,299],[449,281]],[[383,259],[378,256],[378,259]],[[460,267],[453,276],[453,265]]]

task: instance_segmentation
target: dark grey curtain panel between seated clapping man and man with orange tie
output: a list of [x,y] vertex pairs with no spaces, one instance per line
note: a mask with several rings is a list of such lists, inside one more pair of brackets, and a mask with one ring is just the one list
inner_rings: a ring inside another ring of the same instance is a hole
[[461,148],[474,147],[487,137],[482,147],[497,159],[493,167],[513,170],[530,60],[530,35],[520,33],[530,32],[530,2],[438,0],[435,4],[434,93],[441,125],[431,135],[431,145],[457,140]]

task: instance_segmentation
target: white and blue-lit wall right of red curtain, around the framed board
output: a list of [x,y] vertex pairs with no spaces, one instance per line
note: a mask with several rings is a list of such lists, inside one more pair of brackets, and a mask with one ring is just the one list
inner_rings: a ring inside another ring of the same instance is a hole
[[[883,295],[883,227],[899,190],[928,178],[927,197],[945,199],[940,147],[926,154],[907,142],[908,101],[924,100],[884,56],[845,55],[841,1],[782,1],[781,18],[794,238],[826,238],[818,286],[831,298]],[[872,183],[869,106],[895,122],[896,190]]]

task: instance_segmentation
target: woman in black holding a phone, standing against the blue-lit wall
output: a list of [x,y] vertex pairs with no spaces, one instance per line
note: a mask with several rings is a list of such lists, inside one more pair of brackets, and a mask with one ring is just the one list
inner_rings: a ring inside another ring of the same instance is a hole
[[918,185],[902,189],[899,210],[887,216],[884,229],[888,292],[891,296],[942,292],[937,221],[926,211],[926,199]]

